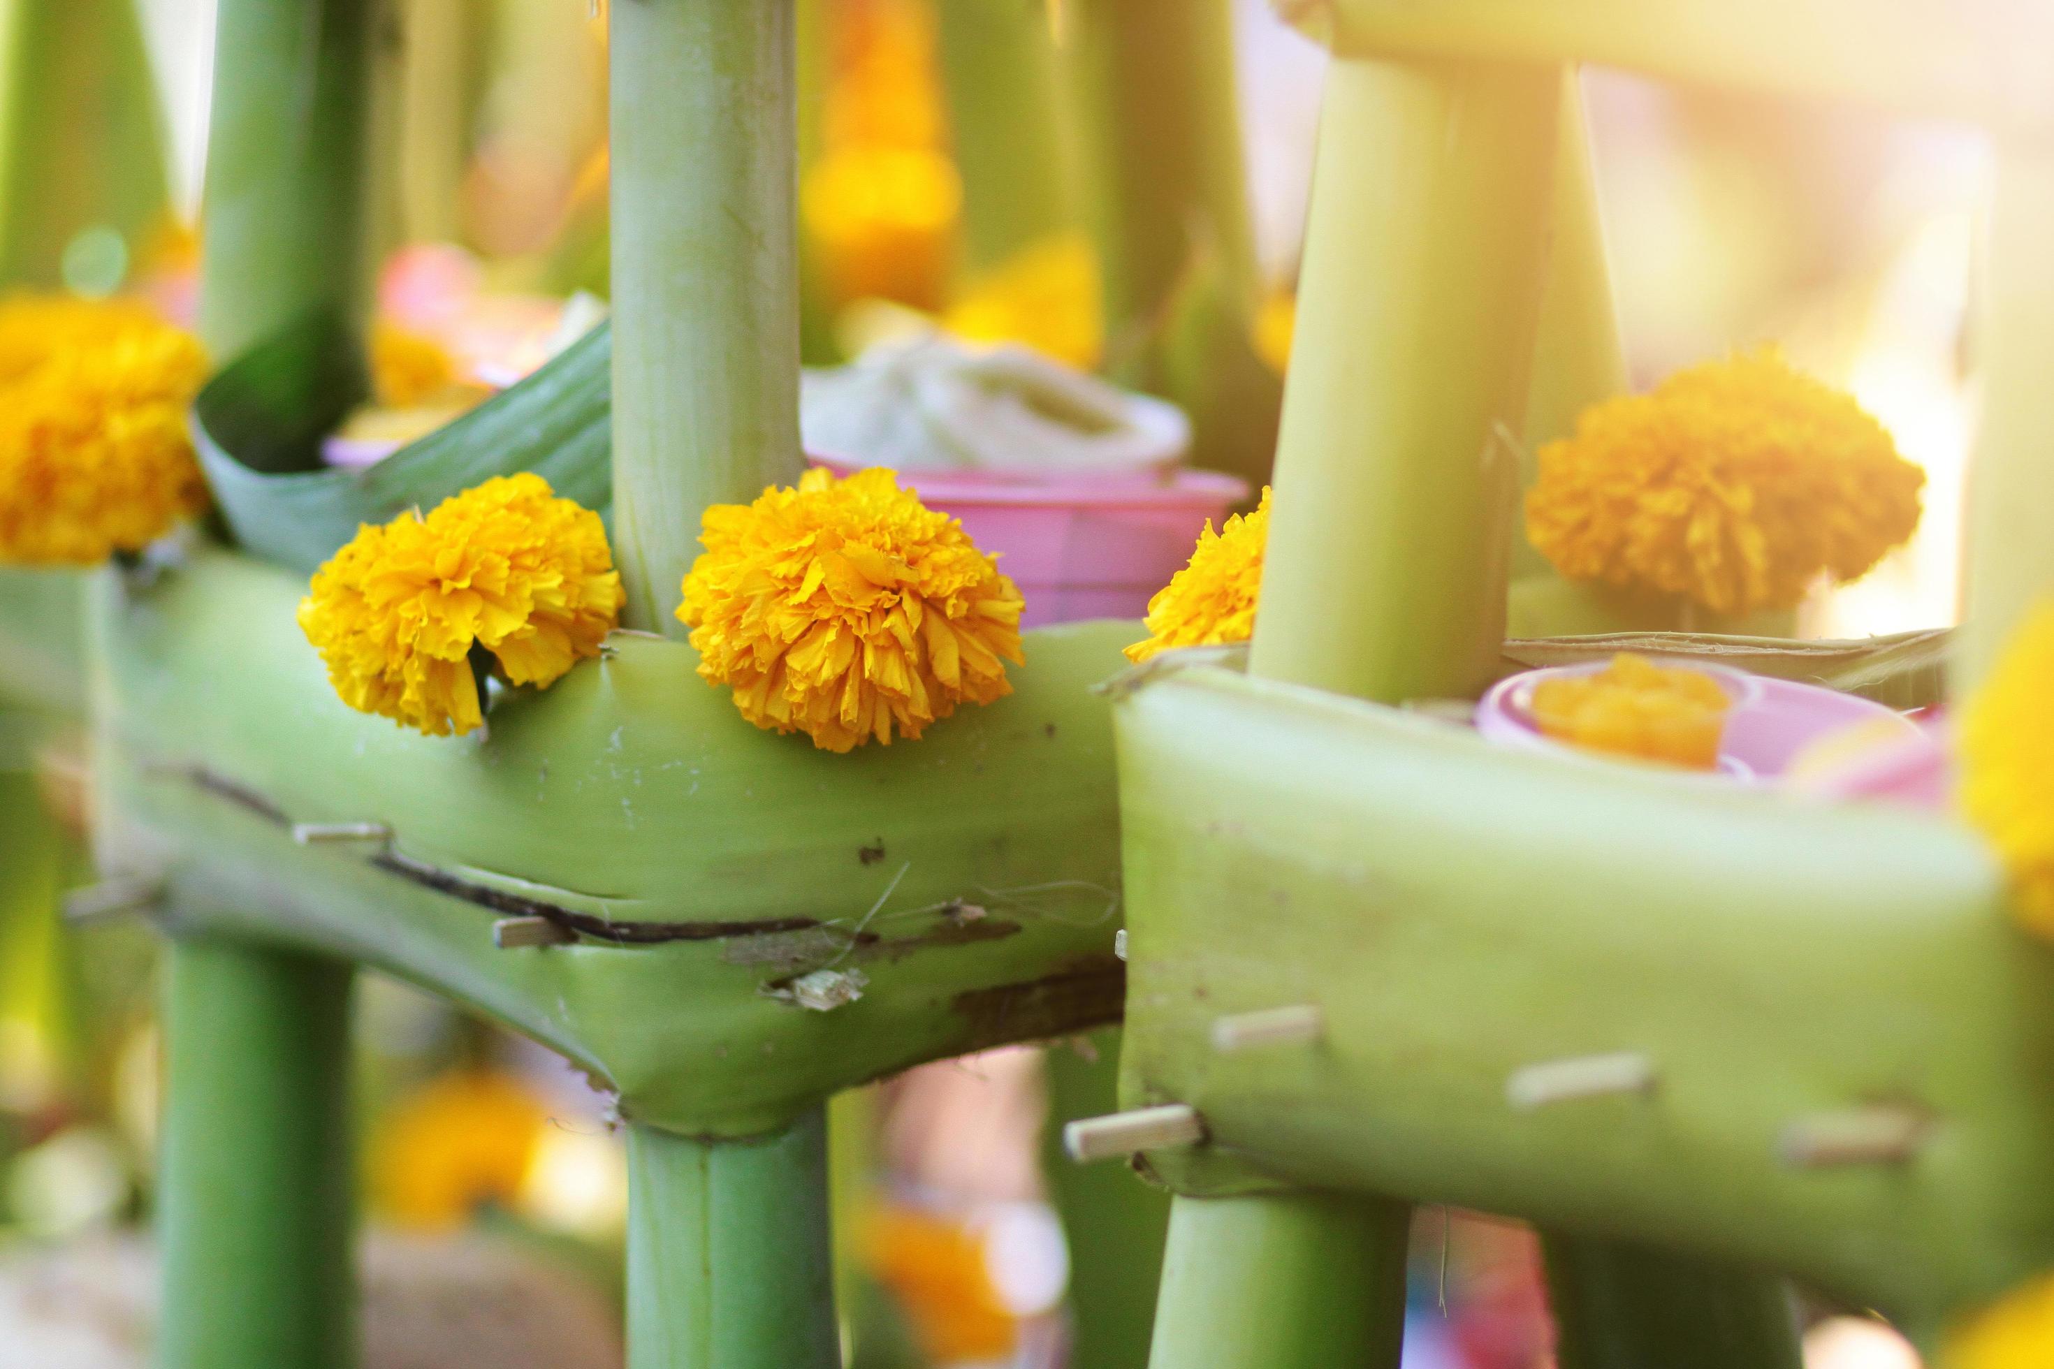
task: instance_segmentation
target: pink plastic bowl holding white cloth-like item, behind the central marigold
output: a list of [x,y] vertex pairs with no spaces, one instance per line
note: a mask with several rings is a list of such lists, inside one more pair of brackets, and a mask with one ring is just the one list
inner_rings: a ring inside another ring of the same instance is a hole
[[[850,474],[859,464],[813,462]],[[902,470],[937,513],[963,521],[1027,599],[1021,626],[1082,618],[1140,618],[1148,599],[1191,558],[1197,534],[1249,497],[1245,480],[1179,470],[1161,484],[1000,484],[955,470]]]

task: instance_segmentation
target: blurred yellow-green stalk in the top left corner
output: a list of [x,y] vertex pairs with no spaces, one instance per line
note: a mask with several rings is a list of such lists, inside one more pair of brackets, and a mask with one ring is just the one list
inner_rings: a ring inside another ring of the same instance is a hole
[[97,226],[127,261],[166,226],[168,185],[142,29],[129,0],[0,16],[0,283],[55,287],[64,248]]

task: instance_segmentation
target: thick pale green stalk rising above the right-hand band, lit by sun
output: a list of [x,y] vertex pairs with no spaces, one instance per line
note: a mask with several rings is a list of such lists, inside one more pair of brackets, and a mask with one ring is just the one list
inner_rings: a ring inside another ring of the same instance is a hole
[[1504,638],[1559,74],[1327,74],[1249,669],[1460,696]]

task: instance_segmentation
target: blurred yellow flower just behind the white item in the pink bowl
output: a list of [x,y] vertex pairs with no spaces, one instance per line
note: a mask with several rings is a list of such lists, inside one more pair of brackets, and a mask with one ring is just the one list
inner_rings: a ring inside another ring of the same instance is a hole
[[972,281],[943,326],[972,343],[1025,343],[1080,371],[1099,363],[1105,326],[1099,259],[1085,234],[1031,242]]

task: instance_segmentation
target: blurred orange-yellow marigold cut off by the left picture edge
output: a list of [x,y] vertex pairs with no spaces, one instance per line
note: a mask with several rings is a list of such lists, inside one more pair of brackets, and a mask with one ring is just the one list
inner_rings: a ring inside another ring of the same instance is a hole
[[94,564],[205,507],[199,343],[136,304],[0,304],[0,560]]

